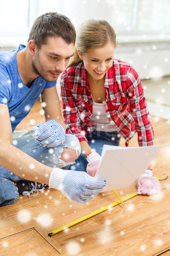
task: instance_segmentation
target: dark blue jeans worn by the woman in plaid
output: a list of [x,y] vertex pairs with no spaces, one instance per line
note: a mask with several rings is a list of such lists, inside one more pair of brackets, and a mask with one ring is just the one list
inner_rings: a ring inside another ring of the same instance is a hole
[[[120,134],[117,131],[105,132],[105,131],[93,131],[90,134],[86,135],[88,139],[88,144],[92,149],[97,151],[99,155],[102,154],[103,145],[114,145],[119,146]],[[66,166],[63,169],[71,169],[86,172],[88,161],[84,154],[80,154],[79,158],[76,160],[76,163],[70,166]]]

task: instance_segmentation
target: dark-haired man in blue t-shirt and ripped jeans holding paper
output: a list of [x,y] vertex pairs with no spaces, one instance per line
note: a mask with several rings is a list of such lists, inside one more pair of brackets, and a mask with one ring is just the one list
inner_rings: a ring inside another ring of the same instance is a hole
[[[81,152],[77,138],[65,134],[55,86],[73,55],[75,38],[67,17],[46,13],[35,20],[26,47],[0,53],[0,206],[17,201],[14,182],[23,179],[34,181],[32,191],[47,184],[76,204],[87,203],[106,185],[85,172],[60,169]],[[12,143],[14,129],[40,93],[46,122],[33,127],[33,136]]]

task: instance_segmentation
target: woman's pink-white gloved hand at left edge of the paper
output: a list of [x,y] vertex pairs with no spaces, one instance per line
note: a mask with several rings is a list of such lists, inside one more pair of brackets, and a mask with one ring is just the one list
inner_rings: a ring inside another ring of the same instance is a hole
[[97,169],[99,168],[100,159],[101,157],[96,151],[87,155],[88,165],[86,171],[88,175],[92,177],[95,176]]

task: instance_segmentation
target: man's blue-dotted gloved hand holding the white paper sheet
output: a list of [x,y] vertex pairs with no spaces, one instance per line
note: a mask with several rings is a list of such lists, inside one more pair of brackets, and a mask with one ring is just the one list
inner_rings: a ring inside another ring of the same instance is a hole
[[86,204],[101,192],[106,180],[95,180],[86,172],[54,168],[49,178],[49,187],[58,189],[75,204]]

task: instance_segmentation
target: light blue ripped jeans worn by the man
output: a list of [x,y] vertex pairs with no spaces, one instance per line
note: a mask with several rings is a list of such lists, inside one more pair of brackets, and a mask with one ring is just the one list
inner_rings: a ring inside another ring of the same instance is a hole
[[[18,134],[20,135],[20,133]],[[68,165],[68,163],[60,159],[63,148],[77,149],[79,154],[81,152],[79,140],[77,137],[71,134],[66,134],[65,142],[62,145],[58,145],[57,147],[53,148],[43,148],[40,146],[34,137],[31,136],[30,132],[26,132],[22,137],[14,136],[13,144],[17,148],[33,157],[40,163],[53,168],[63,168],[64,166]],[[19,194],[17,186],[14,185],[14,182],[18,180],[24,180],[24,178],[19,177],[3,166],[0,166],[0,207],[7,204],[14,204],[17,201]]]

